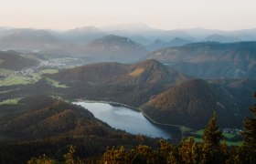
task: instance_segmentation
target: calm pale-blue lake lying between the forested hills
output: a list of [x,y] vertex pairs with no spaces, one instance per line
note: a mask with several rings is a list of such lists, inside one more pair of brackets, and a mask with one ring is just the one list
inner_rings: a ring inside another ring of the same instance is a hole
[[155,125],[140,111],[123,106],[112,106],[102,102],[74,102],[87,108],[95,118],[101,119],[112,128],[123,129],[132,134],[143,134],[153,138],[177,138],[180,131],[175,127]]

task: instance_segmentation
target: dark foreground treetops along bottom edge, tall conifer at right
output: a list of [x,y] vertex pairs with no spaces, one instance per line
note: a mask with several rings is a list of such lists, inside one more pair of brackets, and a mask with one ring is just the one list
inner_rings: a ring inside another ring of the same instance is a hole
[[183,138],[176,146],[172,143],[159,140],[157,149],[148,145],[139,145],[133,149],[125,146],[106,149],[99,159],[80,159],[76,156],[76,148],[69,146],[64,159],[50,159],[48,156],[31,158],[28,163],[255,163],[255,115],[256,106],[251,107],[254,118],[246,118],[244,129],[241,131],[243,144],[228,147],[223,140],[225,134],[217,124],[217,115],[213,112],[208,125],[202,134],[202,141],[196,138]]

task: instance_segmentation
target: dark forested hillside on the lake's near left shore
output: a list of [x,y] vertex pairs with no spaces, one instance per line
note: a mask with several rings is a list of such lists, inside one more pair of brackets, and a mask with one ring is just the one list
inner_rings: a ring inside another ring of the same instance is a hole
[[81,158],[98,157],[107,147],[156,145],[156,139],[111,128],[91,112],[61,99],[37,95],[1,105],[0,162],[26,163],[45,154],[62,158],[69,145]]

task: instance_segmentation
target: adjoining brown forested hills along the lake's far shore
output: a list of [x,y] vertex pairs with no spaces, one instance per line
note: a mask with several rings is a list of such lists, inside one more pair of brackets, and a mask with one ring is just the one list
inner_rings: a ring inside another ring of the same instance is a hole
[[62,91],[65,97],[143,105],[156,122],[189,128],[203,128],[214,110],[222,128],[240,128],[256,90],[256,81],[246,78],[189,80],[154,59],[132,65],[91,64],[48,77],[69,86]]

